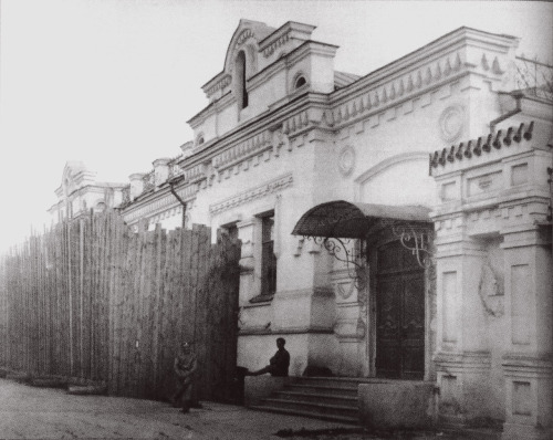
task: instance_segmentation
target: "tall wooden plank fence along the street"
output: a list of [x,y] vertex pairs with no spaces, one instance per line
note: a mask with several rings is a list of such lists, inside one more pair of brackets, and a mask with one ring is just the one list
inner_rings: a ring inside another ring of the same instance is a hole
[[164,399],[191,341],[199,396],[227,400],[239,258],[202,226],[136,233],[115,212],[59,223],[0,259],[0,367]]

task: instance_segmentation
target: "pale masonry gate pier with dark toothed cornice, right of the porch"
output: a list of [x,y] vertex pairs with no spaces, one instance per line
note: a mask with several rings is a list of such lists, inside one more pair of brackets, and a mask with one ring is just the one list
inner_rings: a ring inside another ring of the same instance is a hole
[[[440,410],[552,437],[551,124],[525,121],[436,151]],[[478,359],[478,362],[477,362]],[[472,413],[471,413],[472,412]],[[462,420],[461,420],[462,421]]]

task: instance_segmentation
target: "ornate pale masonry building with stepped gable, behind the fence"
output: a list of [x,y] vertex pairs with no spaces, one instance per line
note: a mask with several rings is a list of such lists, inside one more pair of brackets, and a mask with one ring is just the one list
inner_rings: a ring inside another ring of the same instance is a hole
[[445,419],[547,438],[553,114],[519,40],[461,28],[358,77],[313,30],[241,20],[123,216],[241,240],[239,365],[283,336],[292,375],[430,381]]

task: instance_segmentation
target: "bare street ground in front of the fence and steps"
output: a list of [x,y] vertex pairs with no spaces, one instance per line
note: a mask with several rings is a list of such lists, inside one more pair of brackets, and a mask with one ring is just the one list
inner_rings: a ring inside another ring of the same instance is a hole
[[[354,433],[352,432],[354,427],[343,423],[258,412],[243,407],[215,402],[202,402],[202,405],[204,409],[192,409],[190,413],[182,415],[168,404],[158,401],[104,396],[71,396],[61,389],[34,388],[0,379],[0,439],[357,440],[380,438],[368,433]],[[347,433],[321,432],[338,428],[347,430]],[[282,437],[291,431],[296,434]],[[319,434],[313,431],[319,431]],[[419,433],[392,438],[449,440],[455,437]]]

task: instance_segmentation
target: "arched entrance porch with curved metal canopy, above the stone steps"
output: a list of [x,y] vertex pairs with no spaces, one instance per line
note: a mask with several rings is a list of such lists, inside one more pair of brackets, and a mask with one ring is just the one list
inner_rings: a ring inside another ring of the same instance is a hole
[[420,206],[340,200],[319,205],[298,221],[292,233],[321,244],[335,260],[336,375],[434,380],[428,212]]

